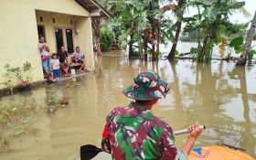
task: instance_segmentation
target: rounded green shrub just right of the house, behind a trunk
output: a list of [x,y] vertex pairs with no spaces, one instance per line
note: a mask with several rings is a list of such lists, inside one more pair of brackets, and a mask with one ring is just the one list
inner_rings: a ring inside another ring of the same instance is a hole
[[115,35],[109,28],[101,28],[101,50],[108,51],[112,47]]

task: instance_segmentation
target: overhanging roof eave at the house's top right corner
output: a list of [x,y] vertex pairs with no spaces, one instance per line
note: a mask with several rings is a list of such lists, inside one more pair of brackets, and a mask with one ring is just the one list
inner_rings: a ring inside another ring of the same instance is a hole
[[[84,9],[90,13],[96,13],[100,11],[100,16],[111,17],[112,15],[101,6],[96,0],[75,0],[79,3]],[[99,16],[99,15],[97,15]]]

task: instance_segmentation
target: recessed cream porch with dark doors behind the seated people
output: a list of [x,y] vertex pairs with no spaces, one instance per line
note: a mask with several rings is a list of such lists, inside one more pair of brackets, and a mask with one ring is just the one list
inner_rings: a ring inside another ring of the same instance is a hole
[[[91,17],[36,11],[37,33],[44,36],[51,53],[64,46],[69,58],[79,46],[85,55],[86,69],[94,69]],[[69,63],[71,60],[69,59]]]

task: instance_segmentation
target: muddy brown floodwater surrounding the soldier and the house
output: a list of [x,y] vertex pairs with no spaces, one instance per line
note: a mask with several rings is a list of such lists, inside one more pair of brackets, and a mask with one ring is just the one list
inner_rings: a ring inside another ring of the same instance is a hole
[[[253,65],[244,69],[225,61],[209,64],[191,60],[129,61],[115,53],[96,62],[95,74],[1,99],[1,104],[34,101],[38,107],[49,97],[69,98],[67,107],[33,118],[33,126],[39,132],[14,138],[11,151],[0,154],[1,160],[76,160],[80,145],[100,146],[107,113],[128,104],[130,100],[123,96],[122,90],[143,70],[156,71],[170,84],[171,91],[155,105],[153,112],[174,130],[198,121],[208,130],[196,146],[230,144],[256,157],[256,67]],[[176,136],[177,147],[185,140],[186,135]],[[108,158],[98,156],[98,159]]]

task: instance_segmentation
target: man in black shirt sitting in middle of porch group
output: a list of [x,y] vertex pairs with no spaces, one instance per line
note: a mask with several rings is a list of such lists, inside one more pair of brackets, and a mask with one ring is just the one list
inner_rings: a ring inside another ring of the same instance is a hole
[[69,74],[69,55],[68,52],[65,50],[65,47],[60,47],[59,51],[57,52],[60,69],[64,72],[65,77],[70,77]]

